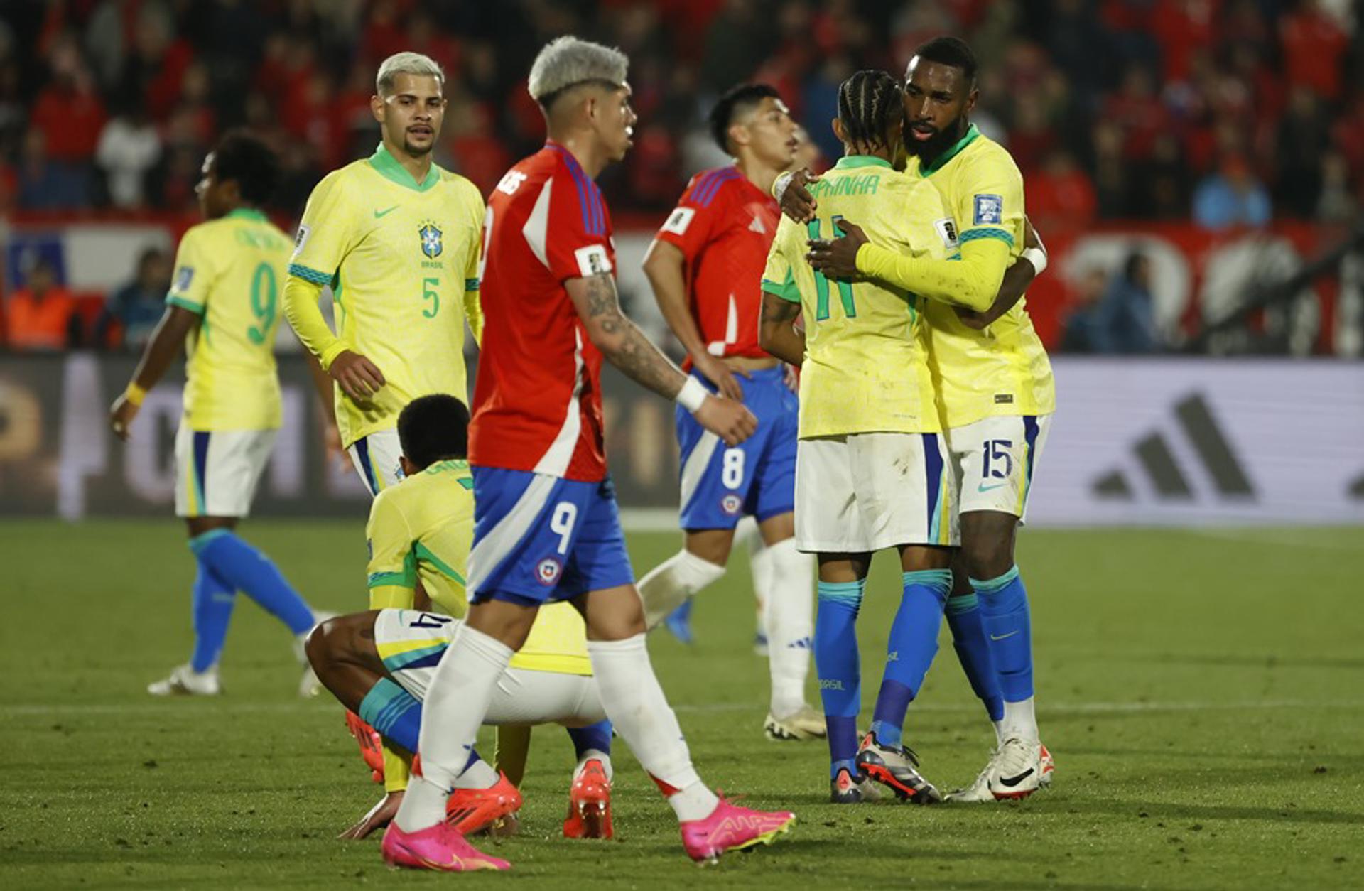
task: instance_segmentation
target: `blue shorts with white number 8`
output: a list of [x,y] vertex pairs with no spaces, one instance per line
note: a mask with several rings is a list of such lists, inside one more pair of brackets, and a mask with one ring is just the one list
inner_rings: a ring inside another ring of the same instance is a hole
[[[750,374],[734,377],[743,388],[743,404],[758,419],[758,430],[732,449],[701,427],[692,412],[681,405],[677,409],[683,529],[732,529],[745,514],[761,523],[795,509],[799,404],[786,385],[783,366]],[[700,374],[693,371],[692,377],[715,393]]]

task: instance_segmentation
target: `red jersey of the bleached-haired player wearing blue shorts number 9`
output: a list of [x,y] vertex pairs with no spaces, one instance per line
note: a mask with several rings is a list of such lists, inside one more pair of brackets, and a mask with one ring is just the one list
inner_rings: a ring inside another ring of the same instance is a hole
[[548,142],[492,190],[483,237],[469,463],[600,480],[602,353],[563,282],[615,267],[602,191]]

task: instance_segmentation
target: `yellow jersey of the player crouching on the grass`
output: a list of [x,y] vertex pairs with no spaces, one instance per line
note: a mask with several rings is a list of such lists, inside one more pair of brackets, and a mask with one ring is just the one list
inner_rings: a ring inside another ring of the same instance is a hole
[[[473,540],[473,476],[468,461],[436,461],[385,488],[370,508],[370,607],[412,609],[421,587],[439,613],[465,614]],[[569,603],[540,610],[512,667],[592,674],[587,625]]]

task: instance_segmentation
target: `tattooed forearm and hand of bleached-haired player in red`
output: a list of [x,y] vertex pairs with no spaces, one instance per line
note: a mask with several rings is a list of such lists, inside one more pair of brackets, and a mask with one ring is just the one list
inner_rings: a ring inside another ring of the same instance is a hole
[[[582,319],[582,326],[587,327],[588,337],[607,362],[659,396],[672,400],[682,393],[690,378],[682,374],[682,370],[621,311],[615,278],[602,273],[569,278],[563,287],[578,311],[578,318]],[[753,435],[758,423],[742,403],[715,394],[707,396],[692,413],[697,423],[731,446]]]

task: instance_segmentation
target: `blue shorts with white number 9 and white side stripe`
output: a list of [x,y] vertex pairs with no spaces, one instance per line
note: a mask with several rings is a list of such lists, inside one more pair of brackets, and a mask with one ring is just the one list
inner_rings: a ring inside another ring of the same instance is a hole
[[610,478],[473,468],[469,602],[540,606],[634,584]]

